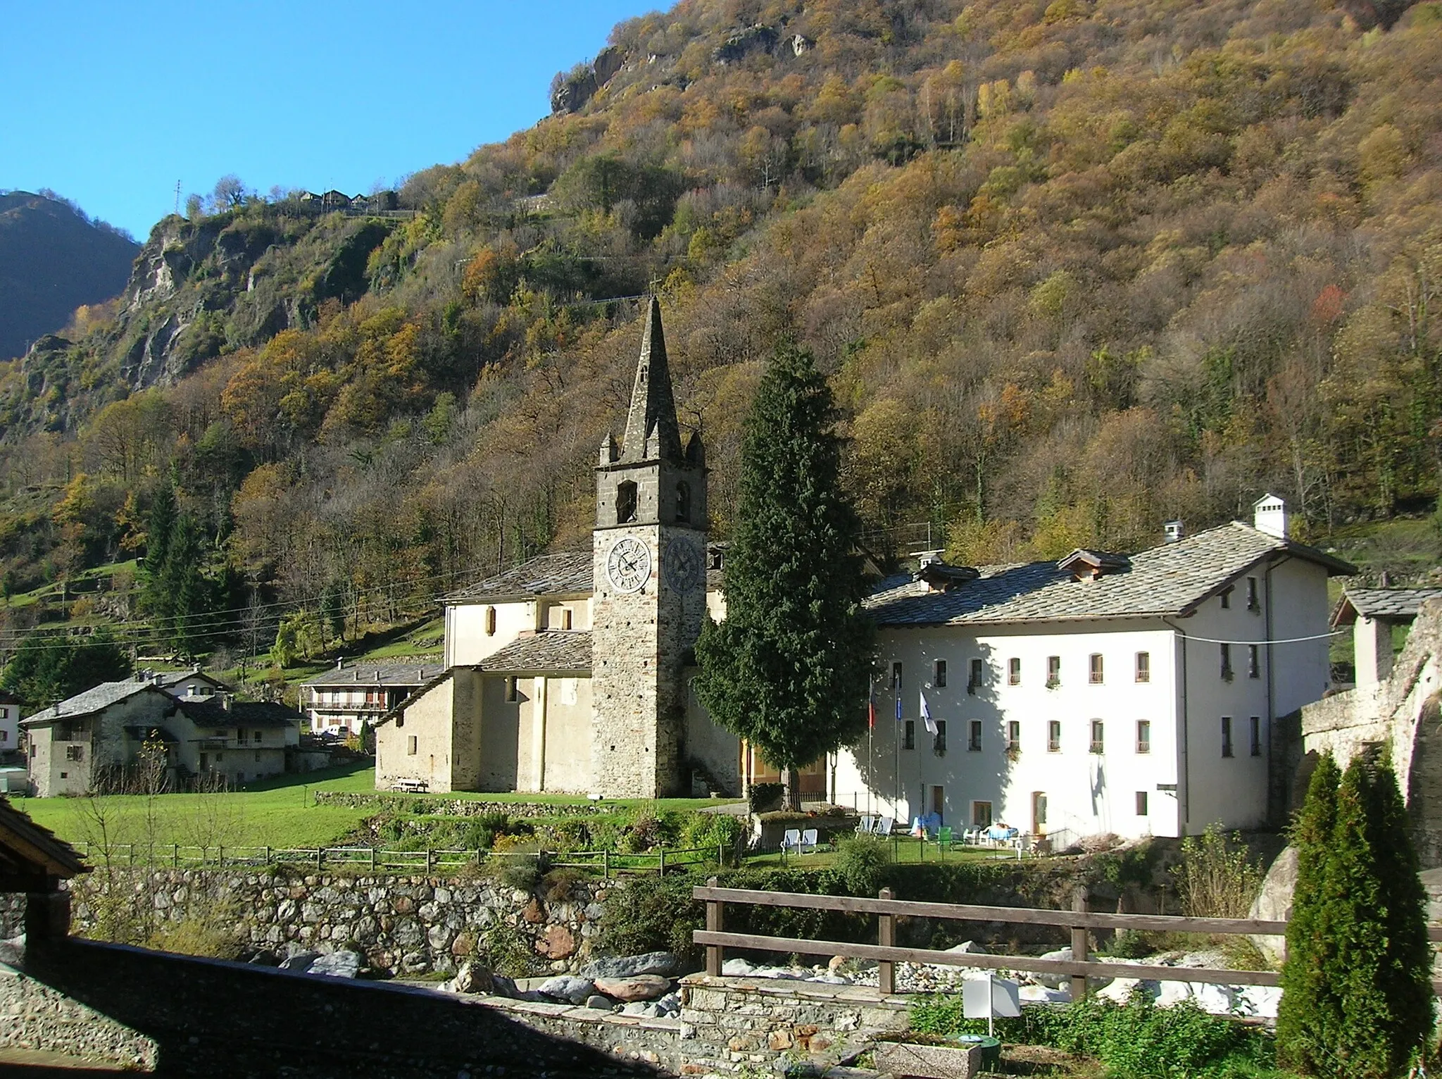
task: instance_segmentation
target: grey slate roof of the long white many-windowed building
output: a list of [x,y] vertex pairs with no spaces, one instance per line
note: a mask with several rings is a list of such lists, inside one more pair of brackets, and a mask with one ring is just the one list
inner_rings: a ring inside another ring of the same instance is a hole
[[1233,521],[1135,554],[1129,568],[1100,580],[1079,581],[1057,563],[988,565],[978,580],[933,593],[914,576],[900,574],[877,586],[867,609],[881,626],[1181,616],[1280,554],[1317,563],[1328,574],[1357,571],[1317,548]]

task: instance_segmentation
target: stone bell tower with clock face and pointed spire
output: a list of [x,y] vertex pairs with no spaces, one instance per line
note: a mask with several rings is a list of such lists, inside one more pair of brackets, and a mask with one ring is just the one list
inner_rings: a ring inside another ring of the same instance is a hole
[[685,658],[707,612],[707,467],[682,447],[660,303],[642,332],[626,431],[596,467],[591,793],[689,793]]

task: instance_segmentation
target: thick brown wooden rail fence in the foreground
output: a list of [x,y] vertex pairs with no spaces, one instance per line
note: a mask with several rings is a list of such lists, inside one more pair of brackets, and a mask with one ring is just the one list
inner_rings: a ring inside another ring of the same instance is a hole
[[[881,992],[895,992],[895,964],[937,964],[983,969],[1027,971],[1070,978],[1071,1000],[1087,992],[1087,978],[1149,978],[1156,981],[1190,981],[1211,985],[1279,985],[1276,971],[1224,971],[1211,966],[1159,966],[1149,964],[1097,962],[1090,959],[1087,932],[1118,929],[1138,932],[1203,933],[1208,936],[1283,936],[1286,922],[1262,922],[1236,917],[1182,917],[1177,915],[1109,915],[1087,909],[1086,891],[1077,889],[1071,910],[1043,910],[1038,907],[989,907],[965,903],[910,903],[893,897],[883,889],[877,899],[852,896],[810,896],[797,891],[751,891],[722,889],[711,877],[705,887],[692,890],[695,899],[707,904],[707,928],[692,933],[692,939],[707,948],[707,974],[721,974],[725,948],[747,948],[766,952],[797,952],[800,955],[841,955],[854,959],[875,959]],[[725,906],[777,906],[805,910],[841,910],[877,916],[877,943],[844,941],[803,941],[789,936],[758,936],[724,930]],[[897,917],[937,917],[953,922],[1008,922],[1012,925],[1044,925],[1071,930],[1070,959],[1038,959],[1027,955],[978,955],[972,952],[939,952],[930,948],[897,948]],[[1442,926],[1428,926],[1430,941],[1442,941]],[[1442,994],[1442,981],[1433,982]]]

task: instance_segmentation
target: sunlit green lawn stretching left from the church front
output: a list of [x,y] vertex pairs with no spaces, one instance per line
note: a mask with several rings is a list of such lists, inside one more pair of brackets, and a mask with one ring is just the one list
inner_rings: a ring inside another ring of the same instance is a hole
[[[224,793],[111,795],[105,798],[13,798],[36,824],[72,842],[156,844],[182,847],[320,847],[336,844],[373,814],[371,808],[316,805],[317,790],[375,792],[373,767],[337,767],[286,775]],[[437,795],[395,795],[399,799]],[[487,802],[575,805],[571,795],[446,795]],[[709,799],[669,798],[655,802],[617,801],[607,806],[696,809]]]

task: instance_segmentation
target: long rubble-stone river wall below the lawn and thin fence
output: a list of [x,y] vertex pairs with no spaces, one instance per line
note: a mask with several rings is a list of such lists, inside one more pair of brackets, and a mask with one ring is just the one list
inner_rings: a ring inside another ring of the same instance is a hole
[[[114,868],[74,883],[72,917],[76,935],[95,932],[102,907],[114,917],[104,896],[118,893],[134,917],[131,939],[195,920],[234,933],[242,954],[350,948],[379,972],[414,977],[454,974],[472,956],[496,959],[499,948],[529,959],[532,969],[522,972],[562,974],[590,958],[606,896],[617,887],[624,884],[578,881],[548,900],[480,876]],[[0,906],[0,925],[7,917],[19,932],[23,906],[10,915]]]

